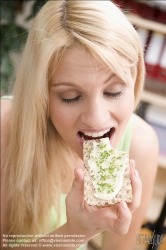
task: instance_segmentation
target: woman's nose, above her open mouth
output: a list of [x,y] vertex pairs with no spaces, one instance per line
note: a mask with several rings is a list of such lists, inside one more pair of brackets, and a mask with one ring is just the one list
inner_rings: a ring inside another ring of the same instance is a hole
[[102,128],[108,125],[109,120],[108,103],[106,105],[99,101],[87,104],[81,114],[81,122],[91,128]]

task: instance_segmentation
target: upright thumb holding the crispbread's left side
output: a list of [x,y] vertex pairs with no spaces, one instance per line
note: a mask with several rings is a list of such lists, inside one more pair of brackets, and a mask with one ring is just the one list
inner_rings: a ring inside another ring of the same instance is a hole
[[68,194],[68,198],[72,201],[72,203],[75,203],[76,205],[83,201],[84,198],[84,173],[81,168],[75,168],[74,169],[74,175],[75,179],[73,181],[73,185],[71,187],[71,190]]

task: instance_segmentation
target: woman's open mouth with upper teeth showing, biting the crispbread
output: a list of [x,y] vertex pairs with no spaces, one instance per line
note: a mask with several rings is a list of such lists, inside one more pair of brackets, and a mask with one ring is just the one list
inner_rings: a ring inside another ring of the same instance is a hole
[[83,138],[84,140],[96,140],[96,139],[102,139],[108,137],[109,139],[113,135],[115,131],[115,128],[111,128],[109,130],[101,131],[101,132],[96,132],[96,133],[83,133],[81,131],[78,132],[79,137]]

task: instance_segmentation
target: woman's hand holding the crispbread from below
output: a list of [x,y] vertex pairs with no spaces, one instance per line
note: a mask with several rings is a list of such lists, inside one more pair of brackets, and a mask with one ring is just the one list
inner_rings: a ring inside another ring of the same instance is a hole
[[142,184],[135,162],[130,160],[131,182],[133,188],[133,201],[126,204],[120,202],[109,207],[89,206],[84,201],[83,170],[75,169],[75,179],[66,198],[67,227],[68,231],[75,234],[84,234],[87,238],[102,232],[109,231],[116,234],[128,232],[132,213],[139,207],[141,200]]

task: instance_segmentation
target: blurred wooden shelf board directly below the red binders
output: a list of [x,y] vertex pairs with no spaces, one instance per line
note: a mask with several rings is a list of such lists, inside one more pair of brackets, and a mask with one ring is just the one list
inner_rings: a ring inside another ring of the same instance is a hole
[[166,97],[144,90],[141,100],[166,109]]

